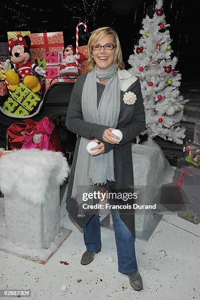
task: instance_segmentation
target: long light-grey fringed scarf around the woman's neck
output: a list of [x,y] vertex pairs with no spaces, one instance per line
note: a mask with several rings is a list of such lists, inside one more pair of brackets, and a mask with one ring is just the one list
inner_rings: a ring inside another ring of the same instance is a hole
[[[97,109],[97,83],[100,80],[110,78],[105,86],[103,95]],[[88,72],[82,93],[82,112],[86,122],[116,127],[120,110],[120,82],[114,64],[105,70],[94,70]],[[86,146],[90,140],[81,137],[74,182],[72,188],[72,198],[79,204],[79,217],[85,216],[83,203],[83,193],[91,193],[95,185],[106,184],[107,180],[114,179],[113,150],[105,154],[91,156],[86,151]],[[86,195],[86,194],[85,194]],[[90,203],[92,203],[90,201]]]

